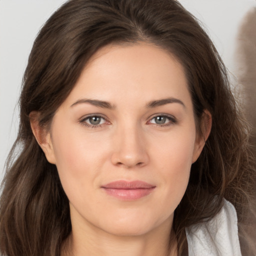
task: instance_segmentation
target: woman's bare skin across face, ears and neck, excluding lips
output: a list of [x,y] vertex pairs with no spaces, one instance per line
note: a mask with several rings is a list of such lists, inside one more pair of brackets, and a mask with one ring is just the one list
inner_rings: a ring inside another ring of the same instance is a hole
[[[166,98],[175,100],[159,101]],[[99,124],[92,126],[88,115],[101,116]],[[100,49],[56,111],[50,131],[31,122],[70,201],[72,233],[62,255],[169,255],[173,212],[208,136],[205,123],[200,137],[183,68],[170,53],[150,44]],[[155,188],[121,200],[101,187],[120,179]],[[176,255],[175,239],[171,247]]]

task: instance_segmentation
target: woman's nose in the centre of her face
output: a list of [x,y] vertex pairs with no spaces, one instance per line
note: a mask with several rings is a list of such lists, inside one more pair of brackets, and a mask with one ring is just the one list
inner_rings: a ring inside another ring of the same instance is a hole
[[146,141],[139,128],[120,128],[115,132],[113,144],[112,164],[125,168],[147,165],[149,156]]

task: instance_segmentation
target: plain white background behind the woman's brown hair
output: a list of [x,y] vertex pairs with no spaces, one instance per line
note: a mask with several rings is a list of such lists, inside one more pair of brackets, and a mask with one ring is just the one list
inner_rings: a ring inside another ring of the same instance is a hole
[[[18,129],[17,100],[32,42],[65,0],[0,0],[0,180]],[[235,77],[238,27],[256,0],[180,0],[204,24]],[[255,28],[256,29],[256,28]]]

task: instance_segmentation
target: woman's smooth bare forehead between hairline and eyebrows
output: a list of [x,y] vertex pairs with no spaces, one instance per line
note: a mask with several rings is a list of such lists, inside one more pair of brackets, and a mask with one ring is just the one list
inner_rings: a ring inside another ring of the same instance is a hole
[[155,45],[107,45],[87,62],[68,100],[79,97],[130,102],[182,97],[189,100],[184,69],[169,52]]

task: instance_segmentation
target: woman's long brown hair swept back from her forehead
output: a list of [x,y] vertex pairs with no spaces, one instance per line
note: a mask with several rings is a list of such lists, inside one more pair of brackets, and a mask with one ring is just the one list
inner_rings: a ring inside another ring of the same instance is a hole
[[243,230],[254,186],[248,128],[214,45],[176,0],[69,0],[41,28],[23,76],[19,131],[6,162],[0,199],[3,254],[56,256],[71,232],[68,199],[56,166],[32,134],[29,113],[38,111],[39,124],[50,125],[99,48],[140,41],[170,51],[183,65],[198,132],[203,110],[212,115],[210,135],[174,212],[178,253],[186,250],[185,227],[212,218],[225,197],[236,208],[247,255]]

